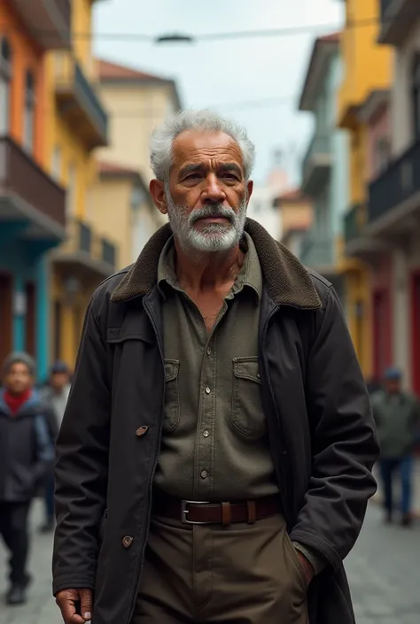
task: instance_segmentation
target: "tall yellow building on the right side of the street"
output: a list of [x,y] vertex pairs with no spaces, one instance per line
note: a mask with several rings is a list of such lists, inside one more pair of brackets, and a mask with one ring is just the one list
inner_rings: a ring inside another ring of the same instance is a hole
[[[360,26],[357,26],[357,25]],[[378,45],[378,0],[346,0],[346,25],[340,50],[344,65],[338,89],[338,127],[349,137],[349,204],[345,215],[345,236],[339,244],[339,270],[344,278],[346,316],[362,370],[372,374],[372,302],[369,267],[344,253],[349,235],[366,218],[369,168],[367,125],[360,115],[370,94],[388,89],[391,81],[391,52]]]

